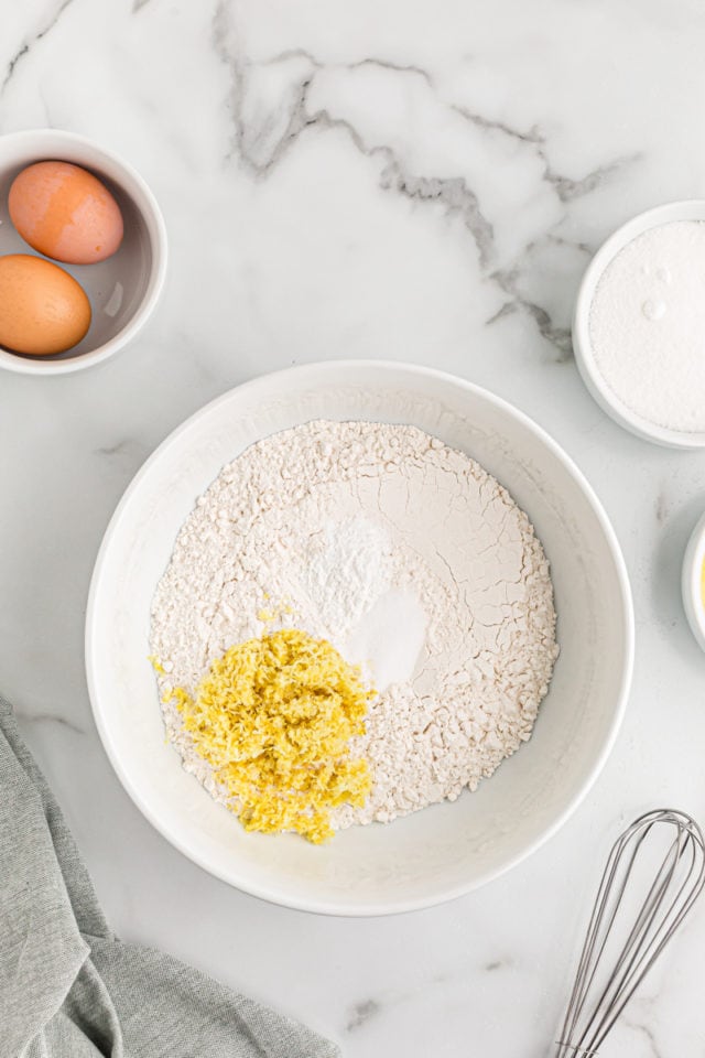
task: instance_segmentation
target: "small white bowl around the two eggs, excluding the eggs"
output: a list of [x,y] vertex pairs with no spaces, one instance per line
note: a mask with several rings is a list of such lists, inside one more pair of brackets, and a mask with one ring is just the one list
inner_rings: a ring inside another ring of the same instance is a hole
[[8,193],[21,170],[45,160],[73,162],[98,176],[120,206],[124,236],[117,252],[97,264],[55,262],[86,291],[93,311],[90,327],[78,345],[53,356],[25,356],[0,347],[0,368],[24,375],[65,375],[99,364],[123,348],[154,310],[166,274],[166,228],[142,177],[110,151],[57,129],[0,137],[0,255],[36,255],[14,229]]

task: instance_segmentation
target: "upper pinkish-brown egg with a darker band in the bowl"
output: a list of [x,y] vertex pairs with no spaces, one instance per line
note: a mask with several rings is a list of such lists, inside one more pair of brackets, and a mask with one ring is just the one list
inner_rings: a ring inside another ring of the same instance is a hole
[[68,264],[93,264],[122,241],[122,214],[100,181],[70,162],[35,162],[14,177],[13,225],[30,246]]

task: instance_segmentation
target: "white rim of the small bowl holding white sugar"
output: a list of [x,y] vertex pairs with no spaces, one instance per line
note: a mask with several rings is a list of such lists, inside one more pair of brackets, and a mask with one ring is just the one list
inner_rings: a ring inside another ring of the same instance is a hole
[[603,411],[607,412],[620,427],[634,433],[638,438],[653,441],[666,447],[703,449],[705,447],[705,433],[669,430],[651,422],[649,419],[643,419],[631,408],[628,408],[605,381],[595,361],[589,335],[590,305],[597,284],[607,266],[637,236],[673,220],[705,220],[705,199],[670,202],[663,206],[657,206],[655,209],[648,209],[646,213],[640,213],[633,219],[628,220],[603,242],[588,264],[578,290],[573,316],[573,349],[575,361],[587,389]]

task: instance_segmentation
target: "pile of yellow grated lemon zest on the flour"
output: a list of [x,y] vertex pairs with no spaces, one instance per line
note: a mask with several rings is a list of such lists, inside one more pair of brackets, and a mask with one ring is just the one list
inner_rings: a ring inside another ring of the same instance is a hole
[[177,687],[166,700],[246,830],[319,844],[334,834],[330,810],[361,807],[370,790],[349,741],[364,733],[375,694],[327,640],[286,628],[231,647],[193,698]]

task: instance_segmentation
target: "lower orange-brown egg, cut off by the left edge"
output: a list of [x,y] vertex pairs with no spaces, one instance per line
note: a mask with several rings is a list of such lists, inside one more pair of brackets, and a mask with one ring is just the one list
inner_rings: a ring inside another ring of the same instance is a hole
[[77,345],[90,326],[90,302],[68,272],[41,257],[0,257],[0,345],[46,356]]

